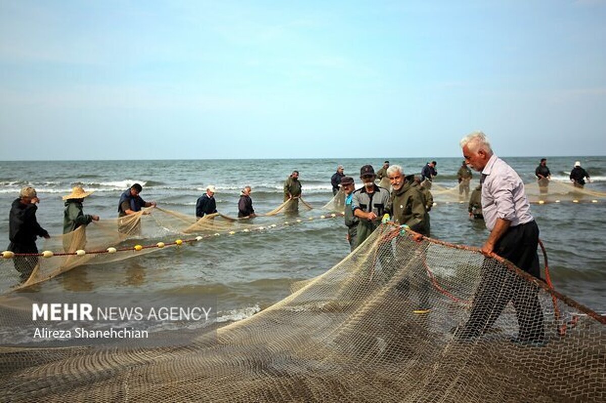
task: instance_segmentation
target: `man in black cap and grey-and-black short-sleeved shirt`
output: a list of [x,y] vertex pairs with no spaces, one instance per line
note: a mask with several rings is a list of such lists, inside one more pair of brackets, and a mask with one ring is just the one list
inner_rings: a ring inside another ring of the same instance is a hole
[[372,165],[360,168],[360,179],[364,187],[353,192],[351,208],[359,218],[356,247],[381,224],[382,215],[389,203],[389,191],[375,185],[375,169]]

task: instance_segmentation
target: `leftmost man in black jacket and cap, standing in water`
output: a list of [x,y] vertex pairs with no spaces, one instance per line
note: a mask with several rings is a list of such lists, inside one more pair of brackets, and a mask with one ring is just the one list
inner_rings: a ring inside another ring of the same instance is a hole
[[[21,189],[19,198],[13,201],[8,214],[8,250],[21,254],[37,254],[36,237],[50,238],[48,232],[38,224],[36,210],[40,199],[36,189],[26,186]],[[26,281],[38,264],[38,256],[13,258],[15,269],[21,273],[21,281]]]

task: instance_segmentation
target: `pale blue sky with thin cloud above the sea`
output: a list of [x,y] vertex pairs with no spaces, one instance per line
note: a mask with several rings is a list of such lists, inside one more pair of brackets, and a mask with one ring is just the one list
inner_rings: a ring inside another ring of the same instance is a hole
[[0,160],[606,155],[606,1],[0,0]]

